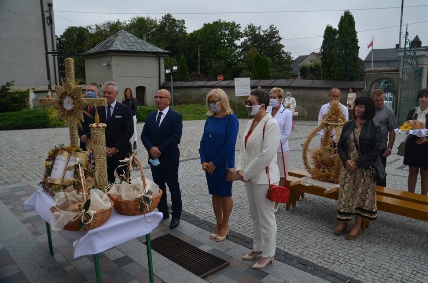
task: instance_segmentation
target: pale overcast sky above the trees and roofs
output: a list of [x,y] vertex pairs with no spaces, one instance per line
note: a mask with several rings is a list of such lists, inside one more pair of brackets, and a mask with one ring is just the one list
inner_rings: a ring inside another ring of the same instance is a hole
[[[54,0],[56,34],[69,26],[87,26],[109,20],[127,21],[135,16],[161,19],[170,13],[183,19],[191,33],[219,19],[234,21],[242,30],[248,24],[267,29],[278,28],[284,50],[293,58],[318,52],[327,25],[337,28],[345,10],[354,16],[360,58],[369,53],[367,45],[374,36],[374,48],[393,48],[398,43],[401,0]],[[419,36],[428,46],[428,1],[404,0],[403,36],[408,24],[409,38]],[[403,46],[403,40],[401,46]]]

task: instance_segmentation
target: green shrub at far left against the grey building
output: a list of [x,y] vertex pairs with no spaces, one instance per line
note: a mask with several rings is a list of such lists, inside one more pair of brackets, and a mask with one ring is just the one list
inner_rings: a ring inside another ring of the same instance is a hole
[[0,113],[21,111],[28,106],[28,91],[10,91],[14,83],[0,86]]

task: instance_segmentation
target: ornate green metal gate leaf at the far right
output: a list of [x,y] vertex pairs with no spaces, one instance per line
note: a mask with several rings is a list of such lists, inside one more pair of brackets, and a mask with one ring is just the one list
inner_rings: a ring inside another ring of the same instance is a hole
[[398,124],[406,120],[410,108],[417,106],[417,93],[421,89],[422,69],[419,68],[416,51],[411,47],[408,32],[404,38],[403,60],[401,66],[400,95],[398,99]]

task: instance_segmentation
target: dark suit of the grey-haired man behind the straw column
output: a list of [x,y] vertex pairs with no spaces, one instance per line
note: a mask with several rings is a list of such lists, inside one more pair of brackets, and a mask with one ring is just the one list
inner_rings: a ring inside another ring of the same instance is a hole
[[[107,121],[104,106],[98,106],[97,111],[99,122],[107,124],[107,127],[105,128],[105,146],[116,147],[118,150],[117,154],[107,157],[107,174],[109,183],[114,183],[116,181],[115,169],[119,164],[126,165],[126,163],[121,163],[119,160],[125,159],[127,154],[132,152],[129,139],[134,134],[134,121],[132,119],[131,109],[129,106],[117,101],[112,117],[109,121]],[[123,170],[125,169],[126,167],[118,169],[118,174],[123,174]]]

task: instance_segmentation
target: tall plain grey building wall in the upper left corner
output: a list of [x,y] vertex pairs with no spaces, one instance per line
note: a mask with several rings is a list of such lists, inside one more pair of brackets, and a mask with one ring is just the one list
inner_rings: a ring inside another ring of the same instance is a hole
[[[44,0],[45,10],[48,10],[48,3],[52,0]],[[47,13],[44,15],[48,16]],[[14,80],[15,86],[21,88],[47,86],[40,2],[1,0],[0,27],[0,84]],[[51,51],[55,47],[52,48],[51,29],[47,25],[46,30],[48,50]],[[55,33],[55,27],[53,31]],[[52,56],[49,58],[54,85],[54,62]]]

